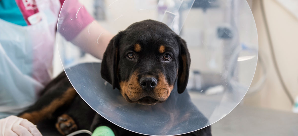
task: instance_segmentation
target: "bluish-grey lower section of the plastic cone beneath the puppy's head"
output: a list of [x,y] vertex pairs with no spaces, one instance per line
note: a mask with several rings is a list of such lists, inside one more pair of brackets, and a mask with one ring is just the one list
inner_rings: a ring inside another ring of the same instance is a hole
[[208,119],[193,104],[188,92],[178,94],[177,86],[166,102],[154,106],[140,105],[128,103],[119,90],[113,90],[109,83],[105,84],[100,76],[100,63],[79,64],[66,69],[66,73],[80,96],[88,98],[84,100],[95,111],[131,131],[149,135],[176,135],[209,125]]

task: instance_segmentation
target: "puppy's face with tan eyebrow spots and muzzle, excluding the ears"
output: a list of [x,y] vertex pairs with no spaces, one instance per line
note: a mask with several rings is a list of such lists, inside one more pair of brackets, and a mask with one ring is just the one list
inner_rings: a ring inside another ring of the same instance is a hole
[[162,30],[132,30],[120,43],[118,74],[123,97],[140,104],[164,102],[178,75],[179,43],[175,36]]

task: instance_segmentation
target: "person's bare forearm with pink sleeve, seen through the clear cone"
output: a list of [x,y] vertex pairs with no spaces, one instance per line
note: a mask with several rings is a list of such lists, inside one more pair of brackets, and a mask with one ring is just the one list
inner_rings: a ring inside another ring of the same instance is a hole
[[102,59],[114,36],[101,26],[78,1],[65,1],[58,21],[58,32],[82,50]]

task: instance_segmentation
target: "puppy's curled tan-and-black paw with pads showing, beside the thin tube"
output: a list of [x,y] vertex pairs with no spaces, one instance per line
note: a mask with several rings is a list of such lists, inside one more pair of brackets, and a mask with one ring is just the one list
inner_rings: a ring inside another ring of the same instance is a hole
[[75,121],[67,114],[58,116],[55,126],[62,135],[68,135],[77,130],[77,124],[75,124]]

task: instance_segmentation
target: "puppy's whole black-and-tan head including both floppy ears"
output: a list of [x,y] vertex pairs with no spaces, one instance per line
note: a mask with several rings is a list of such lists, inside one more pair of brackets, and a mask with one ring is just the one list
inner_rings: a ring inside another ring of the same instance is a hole
[[189,76],[186,42],[164,23],[144,20],[111,39],[104,53],[101,75],[132,103],[164,102],[177,80],[182,93]]

